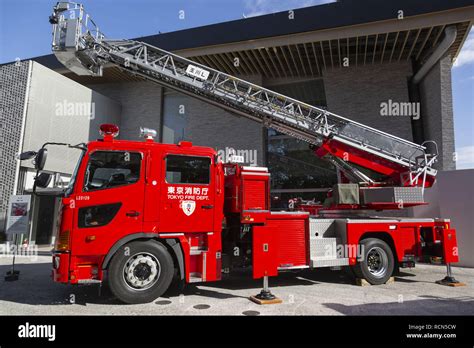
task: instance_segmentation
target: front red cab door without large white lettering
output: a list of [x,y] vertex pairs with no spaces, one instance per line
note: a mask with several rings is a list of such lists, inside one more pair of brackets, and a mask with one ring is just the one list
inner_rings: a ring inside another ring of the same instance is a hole
[[121,237],[143,230],[144,153],[97,150],[86,158],[74,199],[72,248],[105,254]]

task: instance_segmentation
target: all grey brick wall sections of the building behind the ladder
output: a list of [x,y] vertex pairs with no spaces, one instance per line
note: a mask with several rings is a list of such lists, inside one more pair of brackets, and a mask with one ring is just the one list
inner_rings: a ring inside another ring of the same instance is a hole
[[[412,141],[408,116],[382,116],[381,103],[409,102],[408,61],[392,64],[330,69],[323,79],[328,110],[376,129]],[[244,76],[261,84],[260,76]],[[89,86],[122,104],[122,139],[138,139],[140,126],[161,129],[161,87],[150,82],[97,84]],[[425,137],[440,149],[439,168],[453,169],[454,130],[451,96],[451,65],[443,59],[420,85],[421,117]],[[186,97],[186,136],[196,145],[224,149],[256,149],[258,164],[264,164],[265,144],[262,127],[218,107]]]

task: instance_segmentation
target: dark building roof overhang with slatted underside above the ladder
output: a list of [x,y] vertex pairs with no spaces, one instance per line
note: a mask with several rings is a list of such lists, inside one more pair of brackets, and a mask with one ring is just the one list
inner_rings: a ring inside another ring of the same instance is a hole
[[[297,9],[293,16],[290,19],[285,11],[136,40],[233,75],[311,78],[344,63],[360,66],[410,61],[420,66],[443,39],[447,26],[457,29],[448,51],[454,60],[472,26],[474,3],[343,0]],[[84,84],[141,79],[116,67],[106,68],[101,78],[76,76],[53,55],[34,60]]]

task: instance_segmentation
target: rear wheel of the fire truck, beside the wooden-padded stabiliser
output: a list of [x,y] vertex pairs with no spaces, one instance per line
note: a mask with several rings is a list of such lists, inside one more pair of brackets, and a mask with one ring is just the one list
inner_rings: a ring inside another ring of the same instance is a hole
[[352,267],[354,274],[373,285],[385,284],[392,276],[395,267],[392,249],[377,238],[364,239],[360,244],[364,258]]

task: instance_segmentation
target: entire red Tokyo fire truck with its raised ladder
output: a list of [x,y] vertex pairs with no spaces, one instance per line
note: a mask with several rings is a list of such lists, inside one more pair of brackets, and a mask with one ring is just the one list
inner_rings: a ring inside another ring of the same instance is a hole
[[[76,11],[70,19],[65,14]],[[127,303],[161,296],[174,275],[187,283],[220,280],[251,267],[264,279],[279,272],[347,267],[383,284],[400,267],[435,257],[458,261],[447,219],[387,218],[375,211],[425,204],[436,152],[326,110],[277,94],[146,43],[108,40],[80,4],[58,3],[50,18],[53,51],[77,74],[102,74],[105,64],[261,122],[307,142],[338,172],[323,204],[299,202],[272,211],[270,173],[191,142],[118,140],[115,125],[82,152],[62,197],[53,255],[56,282],[108,281]],[[94,25],[87,29],[87,25]],[[84,29],[86,28],[86,29]],[[46,148],[36,155],[35,186],[46,186]],[[64,145],[64,144],[63,144]],[[70,145],[68,145],[70,146]],[[39,193],[39,192],[38,192]]]

